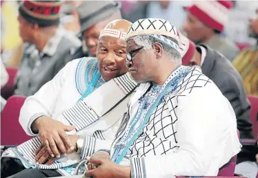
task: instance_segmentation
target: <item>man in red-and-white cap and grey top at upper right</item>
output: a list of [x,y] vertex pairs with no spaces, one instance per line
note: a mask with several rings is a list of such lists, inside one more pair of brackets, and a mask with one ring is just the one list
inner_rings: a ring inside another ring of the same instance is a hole
[[230,1],[194,1],[192,6],[186,8],[189,14],[183,30],[188,39],[195,43],[206,43],[232,61],[239,54],[239,49],[235,43],[221,35],[230,8]]

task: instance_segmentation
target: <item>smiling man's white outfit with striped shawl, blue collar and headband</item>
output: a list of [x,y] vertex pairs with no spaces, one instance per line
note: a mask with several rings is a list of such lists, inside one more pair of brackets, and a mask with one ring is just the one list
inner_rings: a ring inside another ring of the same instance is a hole
[[[119,30],[105,29],[101,36],[124,39]],[[52,81],[26,99],[19,121],[28,135],[35,135],[32,122],[46,115],[66,125],[76,126],[69,135],[83,135],[81,155],[61,156],[53,164],[35,164],[35,150],[41,145],[39,137],[11,148],[3,157],[21,160],[25,168],[58,169],[61,175],[72,175],[76,164],[93,152],[101,150],[115,139],[115,133],[126,112],[129,96],[137,83],[125,74],[106,82],[101,78],[96,58],[75,59],[69,62]],[[36,135],[35,135],[36,136]]]

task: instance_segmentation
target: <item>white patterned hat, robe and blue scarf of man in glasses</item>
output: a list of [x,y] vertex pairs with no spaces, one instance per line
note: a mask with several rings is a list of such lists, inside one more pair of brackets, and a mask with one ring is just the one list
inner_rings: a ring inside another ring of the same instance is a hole
[[[178,41],[176,30],[162,19],[133,23],[127,38],[138,34],[169,35]],[[176,43],[172,46],[178,50]],[[217,175],[240,150],[229,101],[201,68],[179,65],[161,86],[140,84],[110,157],[130,165],[131,177],[202,176]]]

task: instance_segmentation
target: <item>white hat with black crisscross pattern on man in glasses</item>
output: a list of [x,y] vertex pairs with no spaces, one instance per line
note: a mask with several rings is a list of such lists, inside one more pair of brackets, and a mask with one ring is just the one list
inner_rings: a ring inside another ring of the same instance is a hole
[[159,39],[169,46],[174,48],[175,50],[180,52],[179,46],[177,43],[171,41],[166,37],[172,37],[179,43],[179,36],[177,34],[177,30],[175,26],[172,25],[169,21],[164,19],[139,19],[132,23],[132,26],[128,30],[128,34],[126,39],[130,37],[135,37],[141,34],[148,34],[155,39]]

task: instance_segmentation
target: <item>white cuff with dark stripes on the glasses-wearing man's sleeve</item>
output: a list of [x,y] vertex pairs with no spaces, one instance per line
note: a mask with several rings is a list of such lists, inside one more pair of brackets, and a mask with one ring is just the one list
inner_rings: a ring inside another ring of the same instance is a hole
[[131,178],[146,177],[144,157],[130,158]]

